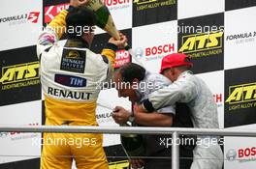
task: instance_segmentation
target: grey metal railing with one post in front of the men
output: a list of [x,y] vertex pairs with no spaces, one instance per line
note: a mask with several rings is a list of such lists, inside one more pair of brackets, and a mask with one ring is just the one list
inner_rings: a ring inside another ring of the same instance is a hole
[[[77,126],[2,126],[0,131],[4,132],[66,132],[66,133],[109,133],[109,134],[172,134],[173,140],[179,134],[186,135],[208,135],[208,136],[246,136],[255,137],[256,130],[245,129],[213,129],[213,128],[186,128],[186,127],[77,127]],[[172,144],[172,168],[179,168],[179,145]]]

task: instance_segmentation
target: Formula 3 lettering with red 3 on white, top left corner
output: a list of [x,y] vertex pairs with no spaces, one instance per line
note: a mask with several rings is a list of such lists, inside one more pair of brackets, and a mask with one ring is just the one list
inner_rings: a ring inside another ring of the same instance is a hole
[[0,18],[1,23],[9,23],[9,25],[16,25],[22,23],[38,23],[40,12],[31,12],[28,14],[17,14]]

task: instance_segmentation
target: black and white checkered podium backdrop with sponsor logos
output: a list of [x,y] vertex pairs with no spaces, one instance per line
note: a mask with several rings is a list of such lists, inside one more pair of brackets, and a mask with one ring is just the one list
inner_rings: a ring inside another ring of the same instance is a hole
[[[0,125],[44,124],[44,98],[36,42],[43,26],[68,8],[69,0],[1,0]],[[125,33],[145,69],[158,72],[163,56],[183,52],[193,71],[210,87],[218,104],[221,127],[256,125],[255,0],[103,0],[118,30]],[[97,29],[92,50],[100,52],[110,38]],[[65,42],[65,38],[60,43]],[[116,67],[132,61],[119,50]],[[114,89],[101,94],[112,106]],[[101,126],[116,126],[111,110],[98,107]],[[225,137],[225,169],[255,168],[256,138]],[[118,135],[105,135],[111,168],[127,168]],[[41,134],[0,132],[1,168],[39,168]]]

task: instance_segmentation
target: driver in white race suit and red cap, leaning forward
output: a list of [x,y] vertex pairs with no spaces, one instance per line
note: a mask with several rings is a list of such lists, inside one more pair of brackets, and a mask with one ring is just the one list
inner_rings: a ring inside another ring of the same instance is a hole
[[[207,84],[190,71],[190,59],[181,53],[173,53],[162,59],[160,73],[173,83],[155,91],[135,111],[153,111],[159,107],[184,102],[192,114],[194,127],[218,128],[217,105]],[[222,169],[223,153],[217,136],[198,136],[193,151],[191,169]]]

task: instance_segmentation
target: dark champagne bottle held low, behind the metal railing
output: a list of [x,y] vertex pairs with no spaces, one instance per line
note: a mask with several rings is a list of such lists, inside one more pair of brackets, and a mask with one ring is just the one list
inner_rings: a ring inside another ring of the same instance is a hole
[[[130,127],[128,124],[120,125],[121,127]],[[121,144],[129,157],[144,155],[144,139],[140,134],[121,134]]]

